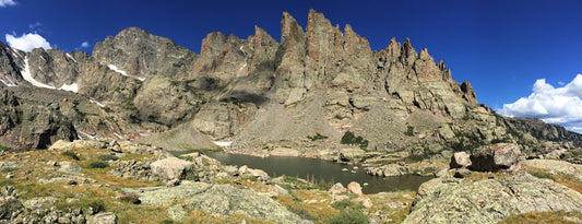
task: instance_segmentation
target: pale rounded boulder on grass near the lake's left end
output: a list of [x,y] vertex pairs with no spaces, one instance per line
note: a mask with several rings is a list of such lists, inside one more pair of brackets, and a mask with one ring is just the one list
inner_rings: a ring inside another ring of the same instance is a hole
[[150,164],[152,174],[163,179],[180,179],[194,164],[177,157],[168,157]]

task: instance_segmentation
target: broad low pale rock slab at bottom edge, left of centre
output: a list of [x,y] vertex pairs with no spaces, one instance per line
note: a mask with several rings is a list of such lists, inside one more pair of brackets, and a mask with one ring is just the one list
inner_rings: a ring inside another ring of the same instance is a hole
[[311,223],[287,211],[271,198],[250,189],[229,185],[182,181],[176,187],[124,189],[140,197],[142,203],[168,205],[180,201],[181,211],[202,210],[213,215],[241,214],[276,223]]

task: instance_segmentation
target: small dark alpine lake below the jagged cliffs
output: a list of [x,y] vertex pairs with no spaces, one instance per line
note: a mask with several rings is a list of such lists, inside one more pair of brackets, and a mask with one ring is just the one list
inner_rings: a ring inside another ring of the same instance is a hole
[[[313,176],[319,180],[323,178],[325,181],[342,182],[344,187],[351,181],[356,181],[361,185],[364,193],[377,193],[382,191],[396,190],[414,190],[418,189],[420,184],[433,178],[417,175],[403,175],[396,177],[377,177],[367,175],[364,167],[354,169],[353,165],[338,164],[329,161],[305,157],[284,157],[284,156],[269,156],[257,157],[250,155],[229,154],[224,152],[207,152],[206,155],[218,160],[223,164],[242,166],[247,165],[250,168],[262,169],[271,177],[281,175],[298,177],[306,179],[307,176]],[[349,170],[342,172],[343,168]],[[352,173],[355,170],[356,173]],[[364,186],[368,182],[368,186]]]

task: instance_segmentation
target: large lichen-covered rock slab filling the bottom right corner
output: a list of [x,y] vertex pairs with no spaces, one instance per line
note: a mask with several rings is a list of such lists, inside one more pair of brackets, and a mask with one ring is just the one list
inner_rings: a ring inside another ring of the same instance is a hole
[[436,178],[418,188],[404,223],[497,223],[512,214],[582,211],[582,194],[547,179],[516,174],[501,179]]

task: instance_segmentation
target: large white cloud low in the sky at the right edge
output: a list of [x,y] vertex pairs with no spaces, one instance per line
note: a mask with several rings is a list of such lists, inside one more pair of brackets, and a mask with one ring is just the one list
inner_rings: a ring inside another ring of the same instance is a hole
[[582,131],[582,74],[562,87],[554,87],[539,79],[533,93],[512,104],[503,104],[500,114],[510,117],[535,117],[549,123],[557,123],[569,130]]

